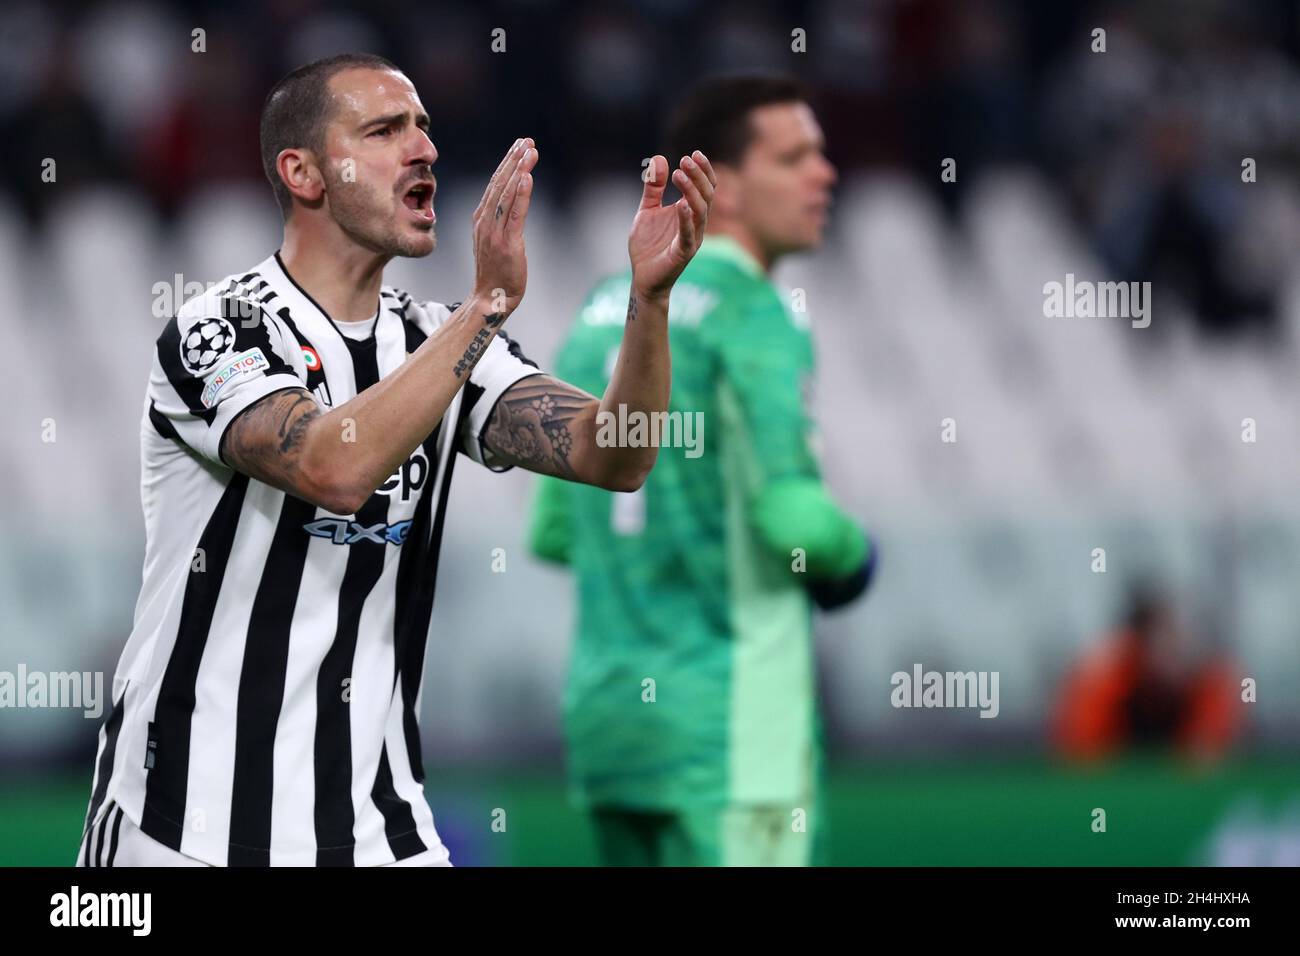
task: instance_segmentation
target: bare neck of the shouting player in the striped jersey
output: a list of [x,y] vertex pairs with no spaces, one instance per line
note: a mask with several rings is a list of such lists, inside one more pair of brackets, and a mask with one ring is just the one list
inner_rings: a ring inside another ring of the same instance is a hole
[[280,260],[330,319],[358,323],[374,315],[389,256],[361,248],[341,230],[321,235],[290,222]]

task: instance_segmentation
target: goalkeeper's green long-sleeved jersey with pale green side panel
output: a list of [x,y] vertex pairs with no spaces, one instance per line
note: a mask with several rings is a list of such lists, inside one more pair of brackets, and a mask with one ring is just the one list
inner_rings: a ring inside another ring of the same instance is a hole
[[[603,393],[629,289],[630,273],[595,286],[559,377]],[[672,399],[645,485],[543,479],[533,514],[534,551],[577,581],[571,779],[588,805],[796,805],[820,761],[805,584],[849,572],[867,544],[814,458],[806,316],[758,263],[706,239],[668,324]],[[607,437],[634,440],[629,421]]]

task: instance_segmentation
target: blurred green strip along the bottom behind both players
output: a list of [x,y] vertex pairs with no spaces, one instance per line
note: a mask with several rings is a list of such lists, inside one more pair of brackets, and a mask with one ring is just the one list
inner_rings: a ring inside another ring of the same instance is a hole
[[[569,806],[558,773],[433,779],[434,818],[462,865],[582,866],[595,858],[586,821]],[[1294,758],[1202,773],[1140,760],[1091,771],[1043,761],[874,762],[832,765],[828,784],[836,865],[1176,866],[1208,862],[1214,847],[1242,861],[1268,861],[1284,835],[1292,844],[1300,835],[1288,809],[1300,804]],[[70,862],[86,787],[81,773],[8,780],[0,791],[0,864]],[[1105,810],[1105,832],[1093,831],[1096,808]]]

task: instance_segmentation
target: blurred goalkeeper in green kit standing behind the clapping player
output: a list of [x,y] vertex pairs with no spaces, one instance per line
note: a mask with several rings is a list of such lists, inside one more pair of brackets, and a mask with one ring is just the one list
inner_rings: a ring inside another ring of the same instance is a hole
[[[836,173],[789,78],[706,81],[668,138],[706,143],[718,172],[668,310],[670,415],[694,446],[664,450],[633,493],[543,479],[532,519],[532,549],[577,579],[569,773],[604,864],[807,864],[822,753],[811,602],[855,598],[875,551],[822,483],[811,339],[770,273],[820,243]],[[632,285],[624,273],[590,293],[560,375],[599,390]]]

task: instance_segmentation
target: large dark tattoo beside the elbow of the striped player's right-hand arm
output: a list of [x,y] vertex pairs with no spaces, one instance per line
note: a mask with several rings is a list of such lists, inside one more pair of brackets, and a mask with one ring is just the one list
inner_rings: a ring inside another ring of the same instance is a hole
[[484,441],[498,457],[540,475],[577,481],[569,454],[569,425],[595,402],[581,389],[533,375],[511,385],[497,402]]

